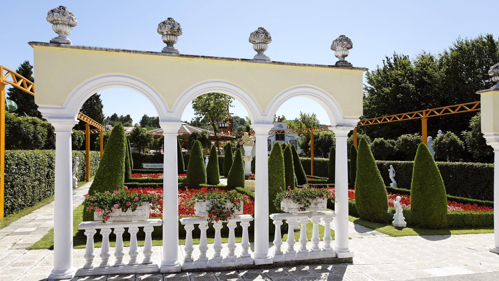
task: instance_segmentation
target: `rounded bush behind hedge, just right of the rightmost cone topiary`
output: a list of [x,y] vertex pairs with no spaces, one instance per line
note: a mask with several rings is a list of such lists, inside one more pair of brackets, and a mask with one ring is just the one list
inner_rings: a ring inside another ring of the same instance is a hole
[[435,138],[432,144],[435,158],[441,161],[458,161],[465,151],[464,142],[453,132],[446,132]]

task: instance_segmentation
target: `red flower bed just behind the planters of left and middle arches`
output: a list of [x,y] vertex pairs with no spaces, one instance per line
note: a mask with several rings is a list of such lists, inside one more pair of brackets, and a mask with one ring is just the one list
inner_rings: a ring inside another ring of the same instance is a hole
[[[213,188],[202,187],[199,189],[187,189],[180,190],[179,189],[179,215],[182,216],[194,216],[194,206],[190,206],[189,199],[193,197],[193,194],[200,192],[207,192],[213,190]],[[217,192],[225,193],[226,190],[222,190],[219,188],[215,188]],[[153,187],[138,187],[138,188],[130,188],[130,193],[136,191],[140,194],[153,194],[156,195],[156,201],[150,204],[151,216],[152,217],[161,217],[163,216],[163,188],[153,188]],[[254,201],[251,198],[248,198],[248,203],[245,203],[243,206],[244,214],[252,214],[254,212]]]

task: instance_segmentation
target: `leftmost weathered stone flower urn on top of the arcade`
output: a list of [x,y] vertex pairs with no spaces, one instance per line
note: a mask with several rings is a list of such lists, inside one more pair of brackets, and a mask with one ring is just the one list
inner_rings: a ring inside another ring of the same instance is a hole
[[48,11],[47,21],[52,23],[52,30],[57,33],[57,37],[50,39],[50,43],[71,44],[71,40],[66,36],[71,34],[76,26],[76,16],[65,6],[58,6]]

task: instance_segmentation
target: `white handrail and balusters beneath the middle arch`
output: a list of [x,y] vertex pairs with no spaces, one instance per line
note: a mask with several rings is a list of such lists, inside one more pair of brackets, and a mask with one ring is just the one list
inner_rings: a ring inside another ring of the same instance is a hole
[[[232,218],[227,219],[227,227],[229,228],[229,243],[227,247],[229,248],[227,258],[235,259],[237,255],[235,253],[236,250],[236,235],[234,229],[237,227],[237,223],[239,222],[241,227],[243,227],[243,237],[241,241],[241,247],[243,248],[240,257],[249,257],[249,248],[250,248],[250,240],[248,235],[248,226],[250,226],[250,221],[253,220],[253,217],[250,214],[239,214],[235,215]],[[208,229],[208,219],[206,217],[183,217],[180,219],[180,223],[184,225],[184,229],[186,230],[186,244],[184,247],[185,256],[184,261],[194,261],[192,256],[192,252],[194,250],[192,243],[192,231],[194,230],[194,225],[199,224],[198,227],[201,230],[201,237],[199,243],[199,261],[208,261],[209,257],[207,256],[208,251],[208,241],[206,236],[206,230]],[[215,241],[213,244],[213,248],[215,253],[213,255],[213,260],[222,260],[224,257],[221,254],[222,251],[222,236],[220,230],[223,228],[223,221],[214,221],[213,228],[215,228]],[[184,263],[185,266],[185,263]]]

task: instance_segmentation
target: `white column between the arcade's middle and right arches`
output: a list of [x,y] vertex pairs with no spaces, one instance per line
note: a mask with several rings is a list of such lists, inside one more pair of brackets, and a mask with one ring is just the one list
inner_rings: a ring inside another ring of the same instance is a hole
[[268,254],[268,131],[272,123],[251,124],[255,135],[254,252],[255,264],[272,263]]

